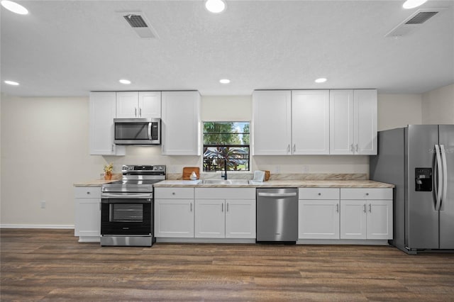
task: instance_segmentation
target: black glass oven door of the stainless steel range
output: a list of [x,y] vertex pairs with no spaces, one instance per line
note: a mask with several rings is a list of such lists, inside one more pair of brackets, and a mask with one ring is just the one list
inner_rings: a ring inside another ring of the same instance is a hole
[[153,199],[101,196],[101,236],[104,235],[153,235]]

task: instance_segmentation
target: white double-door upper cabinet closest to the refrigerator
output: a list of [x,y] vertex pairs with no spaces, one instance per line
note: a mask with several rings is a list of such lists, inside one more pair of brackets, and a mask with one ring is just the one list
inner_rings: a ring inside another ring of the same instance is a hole
[[377,155],[377,90],[330,91],[330,154]]

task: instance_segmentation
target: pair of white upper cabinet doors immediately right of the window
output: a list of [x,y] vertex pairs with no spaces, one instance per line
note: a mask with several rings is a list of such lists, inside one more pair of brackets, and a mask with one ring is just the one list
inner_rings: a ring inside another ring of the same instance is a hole
[[254,91],[254,155],[329,154],[329,91]]

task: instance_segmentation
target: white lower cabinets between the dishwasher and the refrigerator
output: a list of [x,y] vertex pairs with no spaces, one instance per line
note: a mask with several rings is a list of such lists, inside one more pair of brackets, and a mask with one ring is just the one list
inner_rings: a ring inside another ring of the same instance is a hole
[[299,189],[301,240],[389,240],[393,237],[392,189]]

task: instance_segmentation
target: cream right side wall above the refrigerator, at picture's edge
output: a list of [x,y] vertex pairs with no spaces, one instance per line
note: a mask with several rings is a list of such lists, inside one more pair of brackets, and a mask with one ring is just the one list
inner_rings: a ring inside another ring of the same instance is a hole
[[424,124],[454,124],[454,84],[422,95]]

